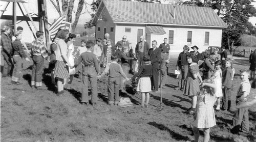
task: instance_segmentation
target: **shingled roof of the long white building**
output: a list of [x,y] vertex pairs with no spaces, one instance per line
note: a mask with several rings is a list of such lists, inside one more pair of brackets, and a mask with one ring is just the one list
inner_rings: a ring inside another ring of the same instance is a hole
[[[118,0],[102,1],[115,23],[227,27],[214,10],[208,7]],[[174,6],[176,7],[175,18]]]

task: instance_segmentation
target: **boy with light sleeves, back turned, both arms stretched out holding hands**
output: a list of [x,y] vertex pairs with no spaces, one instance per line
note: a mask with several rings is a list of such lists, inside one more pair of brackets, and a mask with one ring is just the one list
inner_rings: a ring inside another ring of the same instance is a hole
[[98,78],[101,78],[105,74],[109,73],[108,80],[108,94],[109,94],[109,105],[117,105],[119,102],[119,87],[120,87],[120,75],[122,75],[126,81],[130,80],[124,74],[121,65],[117,63],[118,55],[111,55],[111,63],[106,64],[105,70]]

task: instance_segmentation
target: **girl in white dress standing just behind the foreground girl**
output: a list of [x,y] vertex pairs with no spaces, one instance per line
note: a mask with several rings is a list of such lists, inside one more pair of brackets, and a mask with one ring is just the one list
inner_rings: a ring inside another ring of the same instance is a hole
[[223,96],[222,89],[221,89],[221,86],[222,86],[222,83],[221,83],[221,81],[222,81],[221,61],[220,60],[215,61],[214,65],[215,65],[216,70],[215,70],[214,74],[212,75],[212,77],[210,78],[210,80],[214,81],[214,83],[216,84],[216,87],[217,87],[217,91],[216,91],[217,107],[216,107],[216,110],[219,111],[220,110],[220,104],[221,104],[220,98]]

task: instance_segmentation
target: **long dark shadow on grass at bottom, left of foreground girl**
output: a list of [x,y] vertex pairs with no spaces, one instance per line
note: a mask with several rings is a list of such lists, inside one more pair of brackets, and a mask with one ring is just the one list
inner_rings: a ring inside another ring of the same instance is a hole
[[179,133],[176,133],[176,132],[170,130],[169,128],[165,127],[163,124],[158,124],[156,122],[148,122],[147,124],[152,125],[160,130],[169,132],[170,136],[172,136],[172,138],[174,138],[175,140],[185,140],[185,141],[189,140],[188,136],[183,136]]

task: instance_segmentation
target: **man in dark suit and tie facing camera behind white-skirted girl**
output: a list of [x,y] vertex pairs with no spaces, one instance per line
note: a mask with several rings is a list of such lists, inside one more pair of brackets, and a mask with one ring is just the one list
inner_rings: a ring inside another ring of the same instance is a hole
[[151,64],[153,66],[152,78],[151,78],[151,88],[153,92],[158,91],[158,69],[159,69],[159,61],[161,58],[161,49],[157,48],[157,41],[152,41],[152,47],[148,50],[148,55],[151,58]]

